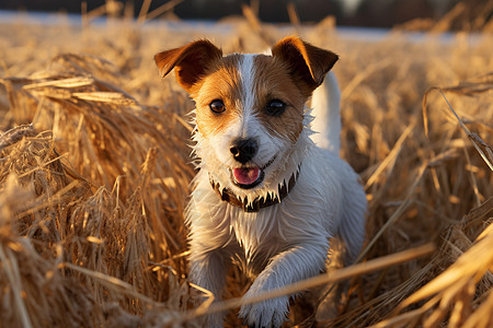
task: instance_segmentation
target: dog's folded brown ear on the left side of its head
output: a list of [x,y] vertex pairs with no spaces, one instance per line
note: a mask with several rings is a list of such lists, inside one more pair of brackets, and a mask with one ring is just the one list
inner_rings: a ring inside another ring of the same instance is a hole
[[191,87],[204,75],[208,65],[221,57],[221,49],[204,39],[159,52],[154,56],[154,61],[162,78],[174,68],[176,80],[183,89],[190,92]]

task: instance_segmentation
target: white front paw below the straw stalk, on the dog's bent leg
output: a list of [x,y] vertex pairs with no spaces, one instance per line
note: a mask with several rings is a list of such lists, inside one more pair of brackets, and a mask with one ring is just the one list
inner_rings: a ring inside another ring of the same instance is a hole
[[[245,297],[250,293],[245,294]],[[280,327],[287,319],[289,312],[289,297],[283,296],[260,303],[243,305],[240,318],[249,327]]]

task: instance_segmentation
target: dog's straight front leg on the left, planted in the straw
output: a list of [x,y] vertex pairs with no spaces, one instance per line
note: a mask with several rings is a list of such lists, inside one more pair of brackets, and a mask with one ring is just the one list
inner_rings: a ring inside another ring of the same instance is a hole
[[[227,258],[221,249],[205,250],[200,245],[192,244],[192,257],[190,259],[190,281],[210,291],[214,301],[221,298],[226,283]],[[206,301],[208,296],[202,298]],[[223,314],[206,315],[204,327],[222,327]]]

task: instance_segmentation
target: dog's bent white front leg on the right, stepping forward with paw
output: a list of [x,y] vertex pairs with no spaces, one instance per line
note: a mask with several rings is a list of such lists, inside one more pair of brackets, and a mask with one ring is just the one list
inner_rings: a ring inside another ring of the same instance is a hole
[[[326,238],[323,239],[296,245],[275,256],[255,279],[244,300],[318,274],[324,267],[329,248]],[[245,304],[240,309],[240,317],[250,327],[279,327],[288,312],[289,295]]]

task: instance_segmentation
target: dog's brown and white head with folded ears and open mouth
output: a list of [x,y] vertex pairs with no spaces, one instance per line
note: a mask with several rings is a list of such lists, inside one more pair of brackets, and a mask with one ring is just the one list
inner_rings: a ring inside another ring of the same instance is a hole
[[154,56],[161,75],[174,68],[195,101],[202,166],[239,197],[275,194],[289,179],[283,172],[305,128],[305,103],[337,60],[297,37],[271,50],[223,57],[210,42],[197,40]]

